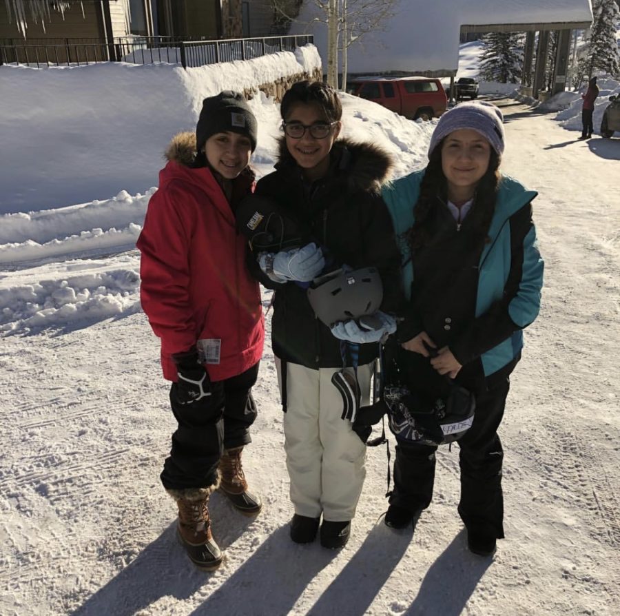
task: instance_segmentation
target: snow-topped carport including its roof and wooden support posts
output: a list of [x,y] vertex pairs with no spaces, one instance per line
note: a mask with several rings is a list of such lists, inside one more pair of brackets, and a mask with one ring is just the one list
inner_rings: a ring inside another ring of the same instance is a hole
[[[327,28],[316,19],[324,19],[324,14],[314,2],[305,1],[291,32],[313,34],[325,61]],[[400,0],[393,17],[380,30],[364,34],[349,47],[349,75],[425,74],[449,76],[453,83],[459,66],[460,32],[527,32],[523,85],[538,96],[549,33],[557,30],[555,94],[564,90],[566,83],[571,31],[588,28],[591,23],[590,0]]]

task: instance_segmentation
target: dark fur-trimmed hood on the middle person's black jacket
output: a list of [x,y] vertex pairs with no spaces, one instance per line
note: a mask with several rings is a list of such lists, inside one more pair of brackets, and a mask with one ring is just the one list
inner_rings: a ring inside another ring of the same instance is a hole
[[[278,140],[278,150],[276,169],[297,165],[287,147],[286,137]],[[394,166],[390,154],[381,147],[349,139],[335,141],[331,149],[331,161],[336,169],[347,170],[347,183],[352,189],[364,192],[379,192],[390,180]]]

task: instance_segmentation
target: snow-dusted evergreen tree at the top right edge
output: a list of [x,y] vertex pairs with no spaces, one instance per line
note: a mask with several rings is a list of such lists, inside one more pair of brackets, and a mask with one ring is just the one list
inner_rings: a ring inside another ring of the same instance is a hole
[[595,0],[592,14],[590,37],[578,63],[581,76],[589,79],[596,72],[617,76],[620,74],[620,54],[616,30],[620,10],[616,0]]

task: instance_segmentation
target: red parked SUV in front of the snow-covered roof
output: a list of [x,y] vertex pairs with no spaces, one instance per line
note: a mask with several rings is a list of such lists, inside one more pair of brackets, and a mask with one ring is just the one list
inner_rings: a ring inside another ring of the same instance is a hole
[[438,118],[448,104],[441,81],[432,77],[363,77],[347,83],[347,92],[411,120]]

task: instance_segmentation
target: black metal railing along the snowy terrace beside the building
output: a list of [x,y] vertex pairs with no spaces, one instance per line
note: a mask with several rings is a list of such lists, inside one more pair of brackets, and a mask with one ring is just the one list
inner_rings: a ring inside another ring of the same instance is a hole
[[[39,42],[43,41],[43,42]],[[53,42],[52,42],[53,41]],[[249,60],[312,43],[311,35],[182,41],[173,37],[101,39],[0,39],[0,64],[82,65],[99,62],[180,64],[183,68]]]

